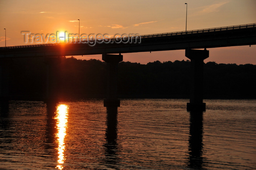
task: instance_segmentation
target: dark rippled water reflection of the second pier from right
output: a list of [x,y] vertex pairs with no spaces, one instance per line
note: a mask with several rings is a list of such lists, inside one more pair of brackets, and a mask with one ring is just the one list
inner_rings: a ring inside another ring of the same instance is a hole
[[117,107],[107,107],[107,128],[105,147],[105,163],[110,168],[118,169],[117,164]]

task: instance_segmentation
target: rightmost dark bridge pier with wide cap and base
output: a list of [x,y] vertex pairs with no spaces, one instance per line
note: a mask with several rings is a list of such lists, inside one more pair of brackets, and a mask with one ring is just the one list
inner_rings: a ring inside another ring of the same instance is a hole
[[191,94],[187,103],[188,111],[205,111],[206,103],[203,103],[203,66],[204,59],[209,57],[209,51],[187,49],[185,56],[191,60]]

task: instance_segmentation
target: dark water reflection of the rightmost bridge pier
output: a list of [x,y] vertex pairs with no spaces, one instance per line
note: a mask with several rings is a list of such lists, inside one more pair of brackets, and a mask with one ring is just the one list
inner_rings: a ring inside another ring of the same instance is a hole
[[201,169],[203,163],[203,112],[190,112],[189,167]]

